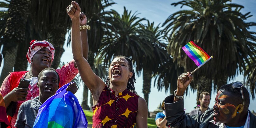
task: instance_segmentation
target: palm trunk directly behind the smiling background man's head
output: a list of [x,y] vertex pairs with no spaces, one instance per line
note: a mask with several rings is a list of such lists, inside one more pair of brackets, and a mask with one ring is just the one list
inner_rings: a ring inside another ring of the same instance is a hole
[[197,82],[197,105],[200,105],[199,97],[202,92],[212,92],[212,81],[206,79],[205,76],[201,76]]

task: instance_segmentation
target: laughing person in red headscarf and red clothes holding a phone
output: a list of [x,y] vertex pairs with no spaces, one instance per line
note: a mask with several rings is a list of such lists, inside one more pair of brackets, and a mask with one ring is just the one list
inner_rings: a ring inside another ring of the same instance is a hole
[[[86,25],[86,23],[86,15],[81,12],[80,26]],[[80,34],[83,43],[83,57],[87,59],[87,30],[81,30]],[[31,100],[36,96],[39,96],[39,88],[36,85],[36,83],[38,82],[37,76],[40,73],[40,71],[52,65],[52,61],[54,59],[54,52],[54,47],[48,41],[32,40],[30,42],[30,47],[27,53],[27,60],[31,66],[30,70],[12,72],[3,81],[2,86],[0,88],[0,93],[4,97],[5,106],[7,108],[7,115],[9,115],[10,113],[10,115],[12,115],[12,117],[8,116],[8,119],[11,123],[11,127],[14,127],[20,105],[27,100]],[[59,87],[62,87],[63,85],[69,83],[78,74],[78,69],[74,60],[68,62],[61,69],[57,69],[56,71],[58,72],[60,77]],[[17,88],[21,78],[29,81],[29,88]],[[67,91],[71,91],[72,93],[75,93],[77,90],[78,88],[75,84],[71,84],[70,87],[67,88]]]

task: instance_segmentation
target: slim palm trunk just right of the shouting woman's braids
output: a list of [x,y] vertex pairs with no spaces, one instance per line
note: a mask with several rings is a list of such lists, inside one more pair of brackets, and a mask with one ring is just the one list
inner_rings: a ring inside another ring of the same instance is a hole
[[[148,96],[150,93],[151,88],[151,79],[152,79],[152,72],[150,70],[147,70],[146,68],[143,68],[143,94],[144,99],[147,102],[147,108],[148,108]],[[148,117],[150,118],[150,114],[148,112]]]

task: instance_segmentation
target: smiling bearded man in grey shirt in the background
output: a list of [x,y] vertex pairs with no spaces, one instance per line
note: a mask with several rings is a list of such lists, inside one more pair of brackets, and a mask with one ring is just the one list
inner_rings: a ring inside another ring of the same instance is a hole
[[210,93],[209,92],[202,92],[199,96],[200,106],[192,111],[190,111],[189,115],[197,115],[203,114],[206,110],[210,109],[208,106],[210,104]]

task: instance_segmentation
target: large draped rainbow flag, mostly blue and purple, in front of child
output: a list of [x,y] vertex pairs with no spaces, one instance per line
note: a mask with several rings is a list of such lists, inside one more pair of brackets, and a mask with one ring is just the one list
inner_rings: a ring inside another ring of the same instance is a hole
[[33,128],[87,128],[87,119],[75,95],[59,88],[38,110]]

